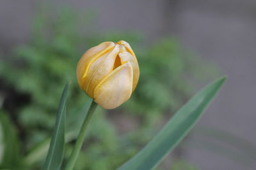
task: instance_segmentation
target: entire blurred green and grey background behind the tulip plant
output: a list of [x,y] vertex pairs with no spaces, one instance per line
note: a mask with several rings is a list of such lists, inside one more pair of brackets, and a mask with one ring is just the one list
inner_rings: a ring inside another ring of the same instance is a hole
[[61,91],[72,80],[67,147],[90,99],[76,64],[102,41],[128,41],[138,87],[97,109],[76,169],[115,169],[207,83],[228,79],[195,129],[157,169],[256,169],[256,1],[0,1],[1,168],[38,169]]

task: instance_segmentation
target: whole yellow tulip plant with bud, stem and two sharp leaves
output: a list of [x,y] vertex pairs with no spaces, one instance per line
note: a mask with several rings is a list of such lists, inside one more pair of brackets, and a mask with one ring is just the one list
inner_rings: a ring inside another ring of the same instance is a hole
[[[139,79],[139,66],[131,46],[125,41],[105,42],[90,48],[77,65],[77,81],[81,89],[93,98],[77,136],[65,169],[73,169],[83,144],[86,129],[97,104],[113,109],[129,99]],[[226,77],[220,78],[196,94],[175,113],[163,129],[132,159],[118,169],[152,169],[171,152],[188,134],[202,113],[220,90]],[[65,111],[67,83],[61,96],[60,106],[47,154],[44,169],[60,169],[65,146]]]

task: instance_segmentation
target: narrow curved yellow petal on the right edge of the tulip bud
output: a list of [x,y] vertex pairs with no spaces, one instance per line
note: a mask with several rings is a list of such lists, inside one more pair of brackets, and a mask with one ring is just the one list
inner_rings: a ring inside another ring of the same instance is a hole
[[136,88],[136,85],[138,83],[139,77],[140,77],[140,69],[138,66],[137,60],[134,59],[134,57],[129,52],[122,52],[118,54],[121,60],[121,64],[124,64],[126,62],[130,62],[132,65],[132,71],[133,71],[133,80],[132,80],[132,92]]

